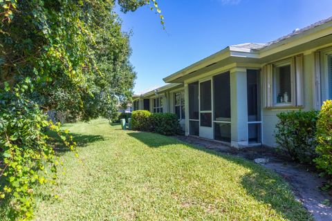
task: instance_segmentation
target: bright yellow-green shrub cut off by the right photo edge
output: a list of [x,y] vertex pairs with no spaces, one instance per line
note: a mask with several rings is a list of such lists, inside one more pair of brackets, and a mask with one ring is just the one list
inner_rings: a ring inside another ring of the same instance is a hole
[[332,175],[332,101],[327,100],[317,119],[316,133],[318,157],[314,160],[318,169]]

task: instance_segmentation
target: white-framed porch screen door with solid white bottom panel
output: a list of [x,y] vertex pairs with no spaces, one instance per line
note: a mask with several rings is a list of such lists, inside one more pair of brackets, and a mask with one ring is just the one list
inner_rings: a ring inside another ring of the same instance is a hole
[[199,136],[213,139],[212,131],[212,80],[199,83],[200,126]]

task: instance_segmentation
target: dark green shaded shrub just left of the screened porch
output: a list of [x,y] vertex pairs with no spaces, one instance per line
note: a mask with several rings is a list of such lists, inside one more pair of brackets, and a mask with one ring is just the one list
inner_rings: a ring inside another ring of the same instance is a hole
[[176,135],[181,133],[178,117],[174,113],[154,113],[150,117],[151,130],[162,135]]

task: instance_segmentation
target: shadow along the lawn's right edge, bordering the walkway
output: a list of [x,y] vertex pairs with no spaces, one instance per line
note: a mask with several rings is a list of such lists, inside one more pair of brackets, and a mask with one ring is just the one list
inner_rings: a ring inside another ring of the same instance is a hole
[[269,204],[270,208],[281,214],[286,220],[308,220],[310,217],[299,202],[295,201],[293,193],[289,191],[289,186],[286,182],[281,182],[282,177],[275,173],[271,173],[268,169],[262,166],[248,162],[241,157],[234,157],[224,155],[216,151],[208,150],[203,147],[186,144],[173,137],[166,137],[154,133],[128,133],[130,137],[139,140],[151,148],[166,147],[172,144],[185,144],[190,148],[197,149],[204,153],[216,155],[235,164],[239,164],[247,169],[250,173],[244,175],[241,179],[241,185],[248,195],[251,195],[255,200]]

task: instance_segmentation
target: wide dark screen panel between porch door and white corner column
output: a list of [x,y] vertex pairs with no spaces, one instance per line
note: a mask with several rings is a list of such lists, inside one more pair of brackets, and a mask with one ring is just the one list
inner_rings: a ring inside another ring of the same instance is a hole
[[213,77],[214,140],[230,142],[230,73]]

